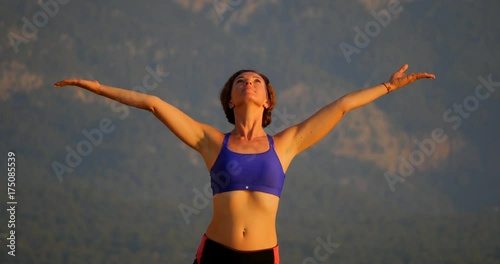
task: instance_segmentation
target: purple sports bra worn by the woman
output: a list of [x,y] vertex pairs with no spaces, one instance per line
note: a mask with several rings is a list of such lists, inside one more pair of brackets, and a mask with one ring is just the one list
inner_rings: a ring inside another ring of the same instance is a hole
[[274,151],[273,138],[267,135],[269,149],[258,154],[236,153],[227,147],[229,133],[210,170],[213,195],[236,190],[259,191],[281,195],[285,173]]

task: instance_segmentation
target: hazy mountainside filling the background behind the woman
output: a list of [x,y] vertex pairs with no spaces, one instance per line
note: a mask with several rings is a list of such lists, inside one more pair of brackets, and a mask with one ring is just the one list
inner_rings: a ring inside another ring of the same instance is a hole
[[[210,221],[195,151],[153,115],[54,88],[60,79],[154,94],[230,131],[218,94],[254,68],[277,90],[275,134],[404,63],[437,78],[347,113],[288,169],[282,262],[500,263],[497,10],[467,0],[2,3],[0,150],[15,153],[17,204],[13,229],[6,175],[0,242],[15,231],[16,257],[4,245],[0,263],[191,263]],[[320,240],[338,246],[323,261]]]

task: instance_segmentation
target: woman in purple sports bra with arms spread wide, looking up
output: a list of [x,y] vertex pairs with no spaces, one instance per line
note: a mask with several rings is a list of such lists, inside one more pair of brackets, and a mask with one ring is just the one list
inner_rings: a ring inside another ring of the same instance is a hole
[[349,93],[307,120],[269,136],[274,89],[253,70],[234,73],[220,99],[234,129],[219,130],[193,120],[152,95],[104,86],[97,81],[63,80],[56,87],[78,86],[129,106],[152,112],[180,140],[198,151],[210,171],[213,218],[198,248],[194,264],[279,263],[276,214],[292,159],[322,139],[352,109],[374,101],[433,74],[405,74],[401,67],[388,82]]

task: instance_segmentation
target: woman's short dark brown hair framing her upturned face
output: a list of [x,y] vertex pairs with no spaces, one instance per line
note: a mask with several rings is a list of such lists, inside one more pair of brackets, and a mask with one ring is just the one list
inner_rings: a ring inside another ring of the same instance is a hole
[[234,79],[245,72],[253,72],[258,74],[260,77],[262,77],[262,79],[264,79],[264,82],[266,83],[269,107],[267,109],[264,109],[264,113],[262,114],[262,127],[266,127],[271,124],[272,121],[271,112],[276,105],[276,95],[273,86],[269,82],[269,78],[267,78],[267,76],[262,73],[259,73],[255,70],[239,70],[233,73],[233,75],[231,75],[231,77],[229,77],[229,79],[226,81],[226,84],[224,84],[224,87],[220,92],[220,102],[222,104],[222,108],[224,109],[224,113],[226,114],[227,121],[234,125],[234,111],[229,107],[229,101],[231,101],[231,91],[233,89]]

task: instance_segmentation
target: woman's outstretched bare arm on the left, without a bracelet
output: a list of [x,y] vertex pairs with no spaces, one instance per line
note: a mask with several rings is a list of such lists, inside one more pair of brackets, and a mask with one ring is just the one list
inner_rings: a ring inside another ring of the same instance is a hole
[[97,81],[79,79],[62,80],[56,82],[54,85],[56,87],[78,86],[128,106],[148,110],[162,121],[180,140],[202,155],[209,154],[207,151],[211,152],[210,149],[214,145],[214,136],[222,134],[211,126],[197,122],[173,105],[154,95],[105,86]]

